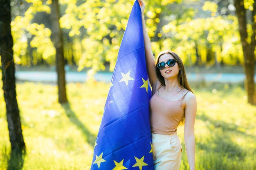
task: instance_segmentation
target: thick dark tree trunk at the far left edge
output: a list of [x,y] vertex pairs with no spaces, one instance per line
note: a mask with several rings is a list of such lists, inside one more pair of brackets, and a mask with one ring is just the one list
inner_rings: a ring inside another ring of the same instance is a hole
[[0,55],[11,152],[25,153],[20,111],[16,99],[15,64],[12,48],[10,0],[0,0]]

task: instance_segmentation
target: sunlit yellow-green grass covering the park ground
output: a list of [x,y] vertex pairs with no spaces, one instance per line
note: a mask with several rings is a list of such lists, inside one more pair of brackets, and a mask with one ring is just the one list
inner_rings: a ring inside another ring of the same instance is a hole
[[[2,82],[0,82],[2,86]],[[256,107],[243,84],[191,83],[197,96],[197,170],[256,169]],[[70,104],[60,105],[57,86],[18,83],[17,98],[27,147],[22,170],[89,170],[110,84],[68,84]],[[5,103],[0,91],[0,170],[10,155]],[[182,141],[183,128],[178,127]],[[189,170],[186,152],[180,170]]]

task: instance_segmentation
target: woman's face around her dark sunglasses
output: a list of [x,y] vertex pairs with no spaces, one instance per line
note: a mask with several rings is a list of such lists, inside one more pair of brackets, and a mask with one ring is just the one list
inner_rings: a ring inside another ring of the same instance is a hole
[[[168,60],[175,59],[171,54],[164,54],[159,58],[159,63],[160,62],[167,62]],[[175,65],[170,67],[167,64],[165,64],[165,68],[163,70],[160,70],[161,75],[168,79],[168,78],[173,78],[177,77],[179,73],[180,67],[178,66],[178,63],[175,62]]]

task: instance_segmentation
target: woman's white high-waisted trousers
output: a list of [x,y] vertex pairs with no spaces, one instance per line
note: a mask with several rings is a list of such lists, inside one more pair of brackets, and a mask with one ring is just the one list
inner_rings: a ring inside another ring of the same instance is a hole
[[177,133],[160,135],[152,133],[155,170],[179,170],[182,147]]

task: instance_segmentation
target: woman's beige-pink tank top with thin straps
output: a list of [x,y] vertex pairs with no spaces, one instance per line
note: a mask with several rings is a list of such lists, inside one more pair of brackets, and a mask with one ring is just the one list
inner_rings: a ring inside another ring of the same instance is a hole
[[182,100],[189,91],[180,93],[180,100],[169,101],[159,96],[158,90],[150,99],[151,133],[170,135],[177,131],[180,121],[184,118]]

